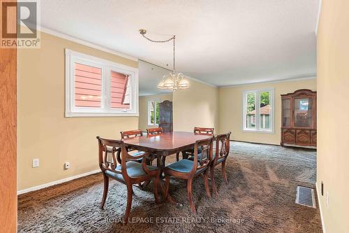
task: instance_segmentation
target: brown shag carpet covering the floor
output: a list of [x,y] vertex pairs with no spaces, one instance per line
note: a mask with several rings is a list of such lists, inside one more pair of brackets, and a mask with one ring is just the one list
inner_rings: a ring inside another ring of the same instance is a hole
[[103,177],[96,174],[20,195],[18,231],[322,232],[319,210],[295,204],[297,185],[315,182],[315,152],[239,142],[231,149],[228,185],[216,168],[218,197],[206,197],[202,178],[194,181],[196,214],[188,206],[186,183],[172,179],[170,193],[179,204],[156,205],[151,186],[134,188],[134,223],[124,226],[119,222],[126,186],[112,181],[100,210]]

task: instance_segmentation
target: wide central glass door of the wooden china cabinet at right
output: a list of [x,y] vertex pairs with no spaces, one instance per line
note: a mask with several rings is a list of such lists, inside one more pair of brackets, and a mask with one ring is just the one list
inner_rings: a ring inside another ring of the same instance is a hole
[[295,127],[312,127],[313,126],[313,110],[311,98],[295,99]]

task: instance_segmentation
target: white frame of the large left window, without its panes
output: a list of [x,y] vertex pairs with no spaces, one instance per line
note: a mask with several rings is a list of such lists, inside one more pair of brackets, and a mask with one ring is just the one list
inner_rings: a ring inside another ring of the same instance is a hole
[[[105,59],[85,55],[66,49],[66,118],[70,117],[108,117],[108,116],[139,116],[138,110],[138,69],[125,66]],[[102,69],[101,108],[76,107],[75,97],[75,62],[95,66]],[[124,73],[128,76],[131,86],[129,109],[111,108],[110,78],[111,71]]]

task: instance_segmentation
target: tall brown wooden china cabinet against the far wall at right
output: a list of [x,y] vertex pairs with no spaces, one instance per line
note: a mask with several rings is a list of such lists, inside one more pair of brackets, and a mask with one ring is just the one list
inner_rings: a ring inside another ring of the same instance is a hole
[[316,92],[281,94],[281,146],[316,146]]

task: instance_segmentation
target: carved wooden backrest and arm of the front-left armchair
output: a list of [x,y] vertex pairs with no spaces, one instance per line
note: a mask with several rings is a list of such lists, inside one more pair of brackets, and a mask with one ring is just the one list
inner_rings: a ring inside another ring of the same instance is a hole
[[[98,139],[98,162],[102,172],[109,170],[117,174],[121,174],[125,181],[130,179],[127,174],[126,162],[132,160],[139,160],[142,157],[147,157],[149,153],[142,153],[138,156],[133,156],[127,153],[124,141],[102,139],[97,136]],[[118,165],[121,165],[121,170],[117,169]],[[145,159],[142,161],[142,165],[145,166]]]

